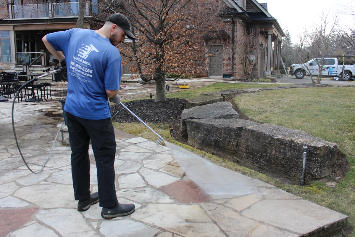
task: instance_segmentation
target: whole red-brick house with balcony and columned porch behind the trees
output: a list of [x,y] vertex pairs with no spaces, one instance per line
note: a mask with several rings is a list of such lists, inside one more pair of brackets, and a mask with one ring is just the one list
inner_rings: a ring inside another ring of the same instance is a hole
[[[72,0],[75,1],[75,0]],[[97,13],[98,0],[86,2],[86,18]],[[204,2],[197,7],[203,11]],[[22,64],[31,64],[41,53],[46,53],[33,65],[48,66],[53,57],[47,52],[42,37],[45,34],[75,28],[78,2],[68,0],[0,0],[0,61],[7,70],[22,70]],[[211,2],[210,2],[211,3]],[[217,0],[215,5],[226,9],[218,19],[218,25],[211,28],[199,41],[201,50],[213,52],[209,58],[208,73],[200,76],[243,78],[244,71],[236,50],[227,45],[236,43],[247,32],[251,40],[262,49],[253,68],[253,76],[276,76],[280,73],[281,39],[284,33],[279,23],[267,11],[267,4],[256,0]],[[94,26],[86,23],[87,28]],[[217,38],[215,37],[217,35]],[[273,44],[276,45],[272,52]],[[273,62],[272,60],[273,54]],[[275,66],[273,66],[275,65]],[[273,71],[271,70],[273,66]],[[124,68],[124,73],[129,73]]]

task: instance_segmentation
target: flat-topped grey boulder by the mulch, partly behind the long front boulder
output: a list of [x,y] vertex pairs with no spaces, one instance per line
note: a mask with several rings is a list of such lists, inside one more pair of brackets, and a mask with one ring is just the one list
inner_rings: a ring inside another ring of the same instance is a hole
[[221,118],[239,118],[238,113],[233,109],[229,102],[217,102],[204,106],[196,106],[190,109],[184,109],[181,113],[180,136],[188,139],[186,119],[221,119]]

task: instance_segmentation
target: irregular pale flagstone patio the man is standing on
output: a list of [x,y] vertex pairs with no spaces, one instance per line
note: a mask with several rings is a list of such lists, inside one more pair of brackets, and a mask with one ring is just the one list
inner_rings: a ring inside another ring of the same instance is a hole
[[[60,103],[16,103],[16,132],[33,169],[46,160],[60,118]],[[104,220],[98,204],[78,212],[74,200],[70,147],[56,142],[40,174],[24,166],[13,139],[11,103],[0,103],[0,237],[265,237],[324,236],[344,225],[346,216],[237,172],[258,191],[211,196],[178,166],[168,148],[116,133],[116,190],[120,203],[134,203],[126,217]],[[47,116],[46,116],[47,115]],[[52,116],[52,117],[48,117]],[[97,192],[91,160],[91,192]]]

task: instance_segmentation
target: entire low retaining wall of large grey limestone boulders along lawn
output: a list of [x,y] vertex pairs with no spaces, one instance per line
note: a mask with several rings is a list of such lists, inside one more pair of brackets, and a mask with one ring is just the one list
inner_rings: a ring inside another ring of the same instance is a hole
[[186,106],[189,105],[187,108],[190,109],[182,112],[180,135],[199,149],[216,155],[229,155],[232,161],[236,157],[246,166],[262,168],[296,181],[300,181],[302,176],[302,148],[306,145],[306,180],[328,176],[337,159],[337,144],[304,131],[239,119],[229,102],[220,102],[240,93],[304,87],[295,85],[201,93],[198,97],[186,99]]

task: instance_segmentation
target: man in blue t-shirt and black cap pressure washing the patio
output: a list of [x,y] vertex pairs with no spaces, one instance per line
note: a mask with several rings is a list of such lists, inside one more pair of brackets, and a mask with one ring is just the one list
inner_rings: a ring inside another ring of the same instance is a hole
[[[120,204],[115,189],[116,140],[108,99],[120,102],[121,55],[115,47],[125,37],[135,39],[131,24],[122,14],[113,14],[96,30],[70,29],[47,34],[43,42],[68,71],[67,116],[71,147],[74,198],[78,211],[86,211],[98,201],[103,218],[125,216],[135,211],[133,204]],[[62,51],[65,54],[62,54]],[[94,151],[98,193],[90,193],[89,141]]]

